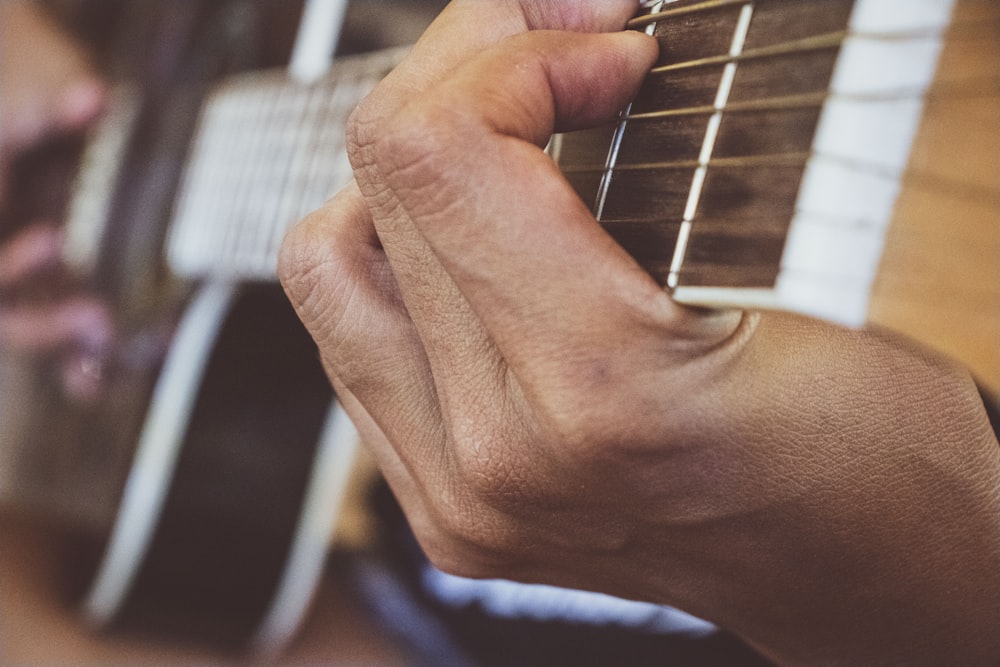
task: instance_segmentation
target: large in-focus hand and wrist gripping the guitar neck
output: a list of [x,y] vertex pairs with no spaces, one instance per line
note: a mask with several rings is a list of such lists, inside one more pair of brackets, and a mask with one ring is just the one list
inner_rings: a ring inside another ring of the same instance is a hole
[[683,608],[781,664],[1000,661],[1000,446],[877,331],[673,303],[541,147],[635,2],[454,2],[348,128],[285,288],[439,567]]

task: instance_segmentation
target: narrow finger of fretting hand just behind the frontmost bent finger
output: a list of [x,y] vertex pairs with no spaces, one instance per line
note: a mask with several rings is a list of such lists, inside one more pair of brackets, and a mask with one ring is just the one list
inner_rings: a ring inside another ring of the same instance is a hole
[[[413,52],[358,108],[348,127],[348,146],[361,191],[371,208],[379,237],[400,292],[425,343],[440,398],[447,402],[443,372],[452,360],[490,352],[488,335],[470,313],[452,281],[420,238],[395,195],[384,187],[372,147],[383,121],[404,102],[431,89],[445,74],[502,39],[537,29],[621,30],[634,15],[634,0],[559,2],[506,0],[454,2],[441,14]],[[403,121],[405,122],[405,120]],[[441,353],[447,359],[440,359]],[[466,373],[458,373],[459,376]],[[442,381],[444,380],[444,381]],[[483,400],[491,401],[492,392]],[[467,400],[464,397],[463,400]]]

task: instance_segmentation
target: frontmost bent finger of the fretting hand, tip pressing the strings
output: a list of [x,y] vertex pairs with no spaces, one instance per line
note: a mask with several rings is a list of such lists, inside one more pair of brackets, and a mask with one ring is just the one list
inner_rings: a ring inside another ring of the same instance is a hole
[[[560,363],[567,342],[604,352],[663,345],[673,340],[664,327],[687,352],[738,320],[674,306],[537,147],[560,120],[613,116],[654,57],[634,33],[509,40],[417,98],[376,144],[388,188],[508,362]],[[404,293],[409,278],[399,276]]]

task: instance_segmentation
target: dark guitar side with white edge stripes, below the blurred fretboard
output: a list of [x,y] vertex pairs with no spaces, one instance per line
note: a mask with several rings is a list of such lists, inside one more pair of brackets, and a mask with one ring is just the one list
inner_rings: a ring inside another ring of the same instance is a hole
[[[317,463],[322,446],[339,444],[324,432],[332,399],[278,286],[201,290],[160,375],[100,569],[87,577],[88,620],[233,650],[255,637],[266,649],[287,641],[327,548],[333,508],[313,487],[336,483]],[[312,553],[296,564],[307,585],[291,627],[262,637],[304,540]]]

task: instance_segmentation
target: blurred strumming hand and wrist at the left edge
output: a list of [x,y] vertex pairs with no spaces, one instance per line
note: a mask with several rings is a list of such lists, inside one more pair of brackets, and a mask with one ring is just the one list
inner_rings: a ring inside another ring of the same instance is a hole
[[[0,206],[17,156],[49,137],[84,131],[106,97],[86,54],[37,5],[0,2]],[[32,221],[0,243],[0,348],[62,355],[64,389],[92,400],[102,388],[95,369],[114,338],[106,305],[79,293],[25,298],[46,291],[61,260],[62,234],[50,221]]]

